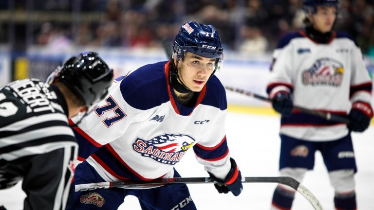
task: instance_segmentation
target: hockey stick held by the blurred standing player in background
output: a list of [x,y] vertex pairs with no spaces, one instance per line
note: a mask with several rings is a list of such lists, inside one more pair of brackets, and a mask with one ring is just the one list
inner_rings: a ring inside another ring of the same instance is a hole
[[[261,95],[258,95],[256,93],[250,92],[250,91],[246,91],[246,90],[238,89],[238,88],[227,87],[227,86],[224,87],[224,88],[227,89],[227,90],[231,90],[231,91],[234,91],[234,92],[242,93],[242,94],[250,96],[250,97],[260,99],[262,101],[272,102],[271,99],[269,99],[267,97],[264,97],[264,96],[261,96]],[[300,106],[294,106],[294,108],[300,110],[303,113],[319,116],[319,117],[321,117],[323,119],[326,119],[326,120],[329,120],[329,121],[334,121],[334,122],[338,122],[338,123],[346,123],[346,124],[350,123],[350,120],[348,119],[348,117],[340,116],[340,115],[337,115],[337,114],[332,114],[330,112],[321,112],[321,111],[317,111],[317,110],[306,109],[306,108],[303,108],[303,107],[300,107]]]

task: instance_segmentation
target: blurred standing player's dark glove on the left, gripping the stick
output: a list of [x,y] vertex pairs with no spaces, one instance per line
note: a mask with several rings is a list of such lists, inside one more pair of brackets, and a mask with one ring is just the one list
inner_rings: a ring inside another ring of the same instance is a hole
[[272,98],[272,105],[273,108],[284,117],[289,117],[294,108],[291,95],[286,92],[277,93],[277,95]]

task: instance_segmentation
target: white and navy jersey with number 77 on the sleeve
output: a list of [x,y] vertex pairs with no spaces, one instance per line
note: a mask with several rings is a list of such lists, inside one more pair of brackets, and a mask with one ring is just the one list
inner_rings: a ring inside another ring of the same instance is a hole
[[167,62],[117,78],[106,99],[75,127],[78,159],[107,181],[150,180],[172,177],[175,164],[193,147],[206,170],[224,179],[231,167],[224,87],[211,77],[195,107],[188,108],[175,100],[168,78]]

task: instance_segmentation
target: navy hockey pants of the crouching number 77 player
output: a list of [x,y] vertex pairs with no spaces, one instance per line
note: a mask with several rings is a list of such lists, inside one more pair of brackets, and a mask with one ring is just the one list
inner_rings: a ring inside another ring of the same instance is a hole
[[[174,169],[174,177],[180,175]],[[104,182],[86,161],[75,169],[75,184]],[[117,210],[127,195],[139,199],[142,210],[196,210],[186,184],[171,184],[162,187],[130,190],[123,188],[98,189],[86,192],[74,192],[66,210]],[[73,193],[73,194],[72,194]]]

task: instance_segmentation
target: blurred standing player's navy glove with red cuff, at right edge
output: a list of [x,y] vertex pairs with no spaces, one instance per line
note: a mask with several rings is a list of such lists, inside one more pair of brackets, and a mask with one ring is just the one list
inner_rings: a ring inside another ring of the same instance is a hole
[[369,127],[370,119],[373,117],[373,109],[367,103],[355,102],[348,117],[350,119],[348,129],[362,132]]

